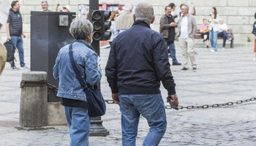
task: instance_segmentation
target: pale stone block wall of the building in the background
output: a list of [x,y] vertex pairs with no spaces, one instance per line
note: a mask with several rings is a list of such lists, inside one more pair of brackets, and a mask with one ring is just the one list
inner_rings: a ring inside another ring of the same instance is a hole
[[[23,15],[23,31],[27,38],[24,39],[24,45],[29,47],[30,45],[30,11],[40,11],[42,0],[20,0],[20,12]],[[131,2],[132,4],[138,4],[140,0],[99,0],[99,4],[106,2],[108,4],[126,4]],[[252,24],[255,21],[254,15],[256,12],[255,0],[147,0],[154,7],[156,20],[154,22],[154,29],[159,31],[159,19],[165,14],[165,6],[173,2],[176,4],[176,14],[180,12],[179,5],[186,3],[188,5],[195,4],[196,8],[196,20],[197,26],[203,23],[203,18],[209,18],[211,13],[211,7],[216,7],[220,18],[225,20],[228,28],[233,29],[236,45],[252,45],[252,42],[247,42],[249,37],[252,41],[255,37],[252,35]],[[11,3],[11,1],[10,1]],[[69,4],[72,12],[78,12],[78,4],[89,4],[89,0],[48,0],[49,9],[54,11],[56,4],[60,4],[63,7]],[[1,42],[6,40],[5,27],[0,31]]]

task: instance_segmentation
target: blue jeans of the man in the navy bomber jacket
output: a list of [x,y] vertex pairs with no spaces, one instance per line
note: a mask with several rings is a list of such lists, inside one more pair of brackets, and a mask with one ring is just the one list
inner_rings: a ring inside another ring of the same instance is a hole
[[150,127],[143,146],[159,145],[167,126],[161,94],[120,94],[119,99],[122,145],[136,145],[140,114],[146,118]]

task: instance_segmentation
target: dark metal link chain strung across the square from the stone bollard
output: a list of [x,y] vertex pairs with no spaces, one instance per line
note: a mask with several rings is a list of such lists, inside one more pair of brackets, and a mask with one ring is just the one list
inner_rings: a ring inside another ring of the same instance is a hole
[[[57,88],[55,85],[51,85],[48,83],[48,88],[50,88],[51,90],[53,91],[56,91],[58,92],[59,88]],[[115,104],[113,100],[104,100],[107,104]],[[235,105],[235,104],[243,104],[243,103],[246,103],[246,102],[249,102],[249,101],[256,101],[256,97],[253,97],[251,99],[246,99],[246,100],[238,100],[236,102],[227,102],[225,104],[212,104],[212,105],[209,105],[209,104],[205,104],[205,105],[200,105],[200,106],[197,106],[197,105],[189,105],[189,106],[178,106],[178,109],[180,110],[184,110],[184,109],[187,109],[187,110],[191,110],[191,109],[208,109],[210,107],[212,108],[216,108],[216,107],[226,107],[226,106],[232,106],[232,105]],[[170,105],[166,105],[165,106],[165,109],[172,109],[170,107]]]

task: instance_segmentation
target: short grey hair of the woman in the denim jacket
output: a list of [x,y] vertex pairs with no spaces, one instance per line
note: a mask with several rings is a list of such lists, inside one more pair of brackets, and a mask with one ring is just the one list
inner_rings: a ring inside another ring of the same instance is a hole
[[86,18],[75,18],[70,24],[69,32],[75,39],[86,39],[93,31],[93,26]]

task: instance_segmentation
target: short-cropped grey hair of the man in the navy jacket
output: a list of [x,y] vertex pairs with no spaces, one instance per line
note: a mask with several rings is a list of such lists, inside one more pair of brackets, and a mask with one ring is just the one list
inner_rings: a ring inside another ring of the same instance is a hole
[[135,8],[135,20],[144,20],[146,23],[150,24],[154,18],[153,7],[146,3],[141,2]]

